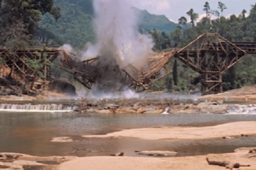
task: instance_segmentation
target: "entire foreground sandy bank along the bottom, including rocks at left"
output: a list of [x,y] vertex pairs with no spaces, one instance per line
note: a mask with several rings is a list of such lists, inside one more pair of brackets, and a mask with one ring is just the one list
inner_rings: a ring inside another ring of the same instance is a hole
[[[228,154],[208,154],[195,157],[33,157],[26,154],[0,153],[0,169],[18,170],[221,170],[222,166],[208,165],[206,157],[215,161],[231,161],[250,164],[240,170],[255,170],[255,154],[248,155],[250,149],[242,149]],[[250,158],[249,158],[250,157]]]

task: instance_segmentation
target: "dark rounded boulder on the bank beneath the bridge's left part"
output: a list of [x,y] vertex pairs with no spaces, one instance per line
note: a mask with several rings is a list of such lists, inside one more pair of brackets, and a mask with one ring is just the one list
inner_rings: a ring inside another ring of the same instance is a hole
[[55,91],[60,94],[76,96],[75,86],[73,86],[73,84],[70,84],[68,81],[65,80],[54,79],[50,81],[48,89],[50,91]]

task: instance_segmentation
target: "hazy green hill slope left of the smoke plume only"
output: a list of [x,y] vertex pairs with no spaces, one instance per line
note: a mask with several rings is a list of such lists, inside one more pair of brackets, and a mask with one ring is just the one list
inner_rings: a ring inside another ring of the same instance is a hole
[[74,47],[81,47],[86,42],[95,40],[92,14],[83,11],[85,6],[80,6],[80,1],[58,0],[55,4],[60,6],[62,17],[56,23],[53,16],[47,14],[42,17],[39,23],[40,28],[50,30],[61,42]]

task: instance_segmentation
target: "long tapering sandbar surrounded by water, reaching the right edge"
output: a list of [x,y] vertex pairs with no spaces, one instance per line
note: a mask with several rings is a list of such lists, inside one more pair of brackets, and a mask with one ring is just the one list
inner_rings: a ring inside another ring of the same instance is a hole
[[256,135],[256,122],[226,123],[202,128],[142,128],[83,137],[135,137],[143,140],[203,140],[217,137]]

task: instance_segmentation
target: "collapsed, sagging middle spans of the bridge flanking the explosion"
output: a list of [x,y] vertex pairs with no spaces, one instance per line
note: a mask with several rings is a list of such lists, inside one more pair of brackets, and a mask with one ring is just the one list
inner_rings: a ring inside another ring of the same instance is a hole
[[[75,58],[75,55],[65,52],[65,50],[62,52],[60,68],[73,74],[73,78],[87,89],[92,89],[97,77],[100,76],[98,70],[107,70],[109,67],[109,65],[106,64],[102,68],[99,57],[81,61]],[[149,61],[145,64],[143,69],[140,70],[132,65],[124,67],[121,69],[121,74],[124,74],[124,82],[128,82],[129,88],[137,92],[145,91],[147,86],[171,73],[171,71],[168,71],[164,76],[157,77],[161,69],[169,63],[169,60],[174,55],[173,53],[174,52],[166,52],[154,57],[149,57]],[[119,89],[117,89],[117,91],[118,90]]]

